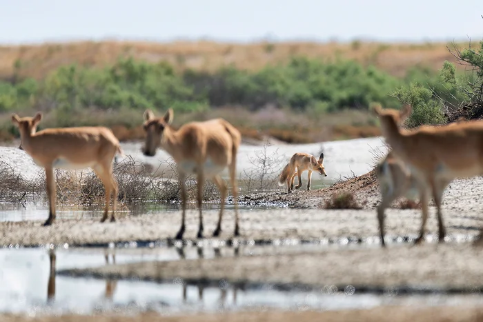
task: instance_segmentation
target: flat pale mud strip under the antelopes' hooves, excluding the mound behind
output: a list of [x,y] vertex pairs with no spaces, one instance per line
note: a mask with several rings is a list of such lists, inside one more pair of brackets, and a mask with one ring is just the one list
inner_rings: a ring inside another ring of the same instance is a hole
[[[437,232],[437,221],[431,209],[426,225],[428,238]],[[99,215],[100,219],[100,215]],[[46,244],[72,246],[122,247],[170,245],[179,230],[181,212],[159,212],[119,218],[115,223],[99,219],[59,219],[43,227],[43,221],[0,223],[0,246],[31,247]],[[217,210],[204,211],[204,236],[208,241],[228,243],[379,243],[375,210],[289,209],[240,211],[240,237],[233,237],[234,212],[227,210],[219,238],[211,239],[218,219]],[[411,241],[420,229],[420,210],[386,211],[386,241]],[[483,226],[478,211],[446,208],[444,223],[448,239],[471,239]],[[186,215],[183,243],[197,243],[198,212]],[[205,239],[206,240],[206,239]]]

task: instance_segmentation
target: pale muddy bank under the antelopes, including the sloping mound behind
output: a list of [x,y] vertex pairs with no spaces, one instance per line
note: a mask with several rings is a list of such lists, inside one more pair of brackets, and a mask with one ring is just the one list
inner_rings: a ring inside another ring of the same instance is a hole
[[[475,236],[483,227],[483,179],[456,180],[446,189],[443,199],[444,223],[448,234]],[[380,201],[377,181],[371,173],[361,177],[313,191],[297,190],[292,194],[271,192],[240,198],[242,203],[288,205],[288,208],[240,211],[240,239],[270,241],[293,238],[302,240],[354,238],[366,239],[378,235],[375,206]],[[351,191],[362,210],[327,210],[325,200],[337,191]],[[397,204],[397,202],[395,203]],[[308,209],[293,209],[308,208]],[[437,222],[431,207],[426,225],[435,234]],[[205,237],[215,229],[218,211],[204,213]],[[47,213],[46,213],[47,217]],[[99,217],[100,219],[100,217]],[[42,221],[0,223],[0,246],[45,245],[103,245],[117,241],[159,241],[175,237],[181,221],[181,212],[159,212],[141,216],[128,216],[120,212],[116,223],[99,223],[99,219],[62,220],[50,227]],[[197,210],[188,210],[185,239],[195,239],[198,225]],[[226,210],[220,239],[231,239],[234,229],[234,212]],[[420,228],[420,210],[386,210],[388,237],[412,237]]]

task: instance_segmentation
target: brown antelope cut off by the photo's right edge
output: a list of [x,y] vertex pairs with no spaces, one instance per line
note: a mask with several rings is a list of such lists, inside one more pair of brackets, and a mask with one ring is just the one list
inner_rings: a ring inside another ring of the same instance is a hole
[[[380,119],[382,134],[391,145],[395,157],[401,159],[422,186],[431,191],[437,208],[440,242],[444,241],[442,194],[455,178],[483,174],[483,121],[465,121],[445,126],[420,126],[404,130],[400,125],[411,115],[410,105],[402,110],[373,110]],[[422,226],[424,234],[428,205],[423,203]]]

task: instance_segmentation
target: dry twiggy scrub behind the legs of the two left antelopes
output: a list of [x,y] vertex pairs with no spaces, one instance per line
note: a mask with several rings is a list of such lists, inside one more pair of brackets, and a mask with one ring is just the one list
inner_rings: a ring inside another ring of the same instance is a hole
[[[113,172],[119,186],[118,200],[121,204],[180,201],[181,188],[175,163],[172,160],[164,163],[166,170],[154,171],[132,157],[115,163]],[[43,170],[32,180],[24,178],[20,173],[0,159],[0,201],[23,203],[36,198],[46,198],[46,178]],[[94,172],[56,169],[55,179],[58,204],[103,205],[105,190]],[[197,182],[193,177],[187,178],[186,189],[188,199],[196,200]],[[204,184],[203,197],[204,201],[219,198],[217,188],[210,181]]]

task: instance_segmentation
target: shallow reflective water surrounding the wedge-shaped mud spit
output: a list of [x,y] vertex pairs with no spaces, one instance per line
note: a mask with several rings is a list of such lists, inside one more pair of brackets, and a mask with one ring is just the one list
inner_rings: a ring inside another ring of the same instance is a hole
[[[296,248],[297,250],[299,248]],[[257,246],[239,250],[250,256],[272,249]],[[114,257],[112,255],[115,255]],[[165,283],[147,281],[115,281],[56,276],[55,270],[133,261],[173,261],[199,256],[234,256],[233,252],[213,249],[185,248],[180,256],[177,248],[157,250],[57,249],[48,248],[0,250],[0,311],[28,314],[76,312],[140,312],[155,310],[161,314],[189,311],[243,310],[284,308],[289,310],[343,310],[371,308],[377,305],[458,305],[483,303],[477,295],[395,296],[364,294],[347,285],[336,290],[327,285],[313,290],[279,290],[270,285],[243,288],[220,281],[217,287],[184,283],[175,279]],[[201,255],[200,255],[201,254]],[[106,257],[107,255],[107,257]]]

